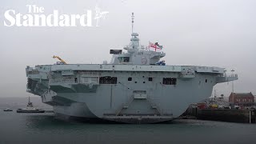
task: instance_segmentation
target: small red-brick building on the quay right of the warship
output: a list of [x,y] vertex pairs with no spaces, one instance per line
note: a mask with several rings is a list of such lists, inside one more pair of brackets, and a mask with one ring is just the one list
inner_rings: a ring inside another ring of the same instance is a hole
[[230,103],[238,106],[254,106],[254,95],[250,93],[231,93]]

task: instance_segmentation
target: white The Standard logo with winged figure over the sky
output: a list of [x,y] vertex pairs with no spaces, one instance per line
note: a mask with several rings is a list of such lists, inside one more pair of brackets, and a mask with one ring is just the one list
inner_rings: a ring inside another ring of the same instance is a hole
[[6,10],[4,26],[99,26],[100,20],[109,14],[98,6],[95,6],[94,14],[93,10],[86,10],[85,14],[59,14],[58,10],[53,10],[53,13],[48,15],[44,14],[45,8],[42,6],[26,7],[28,14]]

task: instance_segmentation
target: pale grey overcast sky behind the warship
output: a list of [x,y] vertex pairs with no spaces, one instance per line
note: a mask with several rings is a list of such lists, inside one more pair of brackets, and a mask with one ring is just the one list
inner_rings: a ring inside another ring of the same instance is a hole
[[[98,4],[109,14],[98,27],[94,20],[91,27],[3,25],[6,10],[28,14],[30,4],[43,6],[43,14],[85,14]],[[132,12],[141,44],[163,45],[168,65],[234,69],[234,91],[256,94],[255,0],[1,0],[0,8],[0,97],[29,95],[26,66],[53,64],[53,55],[68,63],[109,62],[110,49],[129,43]],[[231,82],[214,89],[227,96]]]

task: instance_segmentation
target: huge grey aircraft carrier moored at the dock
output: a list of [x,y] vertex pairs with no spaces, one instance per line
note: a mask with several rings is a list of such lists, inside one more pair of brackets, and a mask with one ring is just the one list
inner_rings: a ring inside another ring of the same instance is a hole
[[134,32],[123,49],[110,50],[109,63],[67,64],[54,56],[61,62],[27,66],[27,91],[59,118],[154,123],[177,118],[190,103],[210,97],[217,83],[238,79],[219,67],[168,66],[160,60],[162,46],[141,46]]

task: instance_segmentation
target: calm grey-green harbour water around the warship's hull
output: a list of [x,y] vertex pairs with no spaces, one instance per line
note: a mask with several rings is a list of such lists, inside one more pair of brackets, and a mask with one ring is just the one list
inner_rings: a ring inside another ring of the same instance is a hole
[[[31,98],[35,106],[51,108]],[[26,106],[26,98],[0,98],[2,143],[255,143],[256,125],[199,120],[175,120],[168,124],[90,124],[64,122],[54,114],[3,112]],[[22,105],[23,104],[23,105]]]

